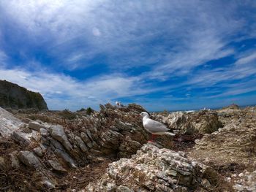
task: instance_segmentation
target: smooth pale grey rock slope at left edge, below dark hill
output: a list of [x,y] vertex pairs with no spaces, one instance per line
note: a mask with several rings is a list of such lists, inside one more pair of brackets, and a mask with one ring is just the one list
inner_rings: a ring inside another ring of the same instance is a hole
[[0,107],[0,137],[10,137],[13,131],[18,131],[23,125],[21,120]]

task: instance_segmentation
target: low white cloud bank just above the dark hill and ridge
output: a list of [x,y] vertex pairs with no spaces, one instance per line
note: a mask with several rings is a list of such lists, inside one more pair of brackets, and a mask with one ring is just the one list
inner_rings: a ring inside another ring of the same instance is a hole
[[8,80],[31,91],[42,93],[50,109],[98,107],[98,104],[118,97],[135,96],[151,92],[142,88],[137,77],[122,77],[121,74],[97,77],[86,82],[64,74],[27,72],[20,69],[0,68],[1,80]]

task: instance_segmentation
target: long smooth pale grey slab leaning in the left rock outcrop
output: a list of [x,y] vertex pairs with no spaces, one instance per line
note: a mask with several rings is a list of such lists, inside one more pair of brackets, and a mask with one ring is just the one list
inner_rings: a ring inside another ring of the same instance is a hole
[[67,139],[67,135],[64,132],[64,128],[62,126],[50,126],[50,135],[56,139],[57,141],[61,142],[61,144],[68,150],[72,150],[72,145],[70,144],[69,140]]

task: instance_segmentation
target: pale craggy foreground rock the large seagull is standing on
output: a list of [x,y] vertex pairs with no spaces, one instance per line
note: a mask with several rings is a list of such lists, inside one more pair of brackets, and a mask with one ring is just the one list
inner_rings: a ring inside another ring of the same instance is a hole
[[121,185],[127,191],[189,191],[202,186],[212,190],[217,180],[214,169],[148,144],[132,158],[109,164],[107,172],[96,183],[89,183],[86,191],[117,191]]

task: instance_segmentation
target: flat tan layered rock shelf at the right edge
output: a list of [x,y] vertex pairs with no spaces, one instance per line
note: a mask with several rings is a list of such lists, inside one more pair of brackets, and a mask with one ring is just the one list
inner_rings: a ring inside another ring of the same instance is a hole
[[[229,121],[219,131],[206,134],[202,139],[197,140],[191,155],[197,159],[208,158],[211,163],[219,166],[223,164],[241,164],[241,162],[255,162],[256,142],[256,112],[246,111],[241,115],[242,122],[238,118]],[[198,155],[200,154],[200,156]],[[251,163],[249,163],[251,164]]]

